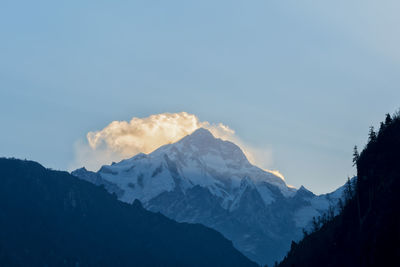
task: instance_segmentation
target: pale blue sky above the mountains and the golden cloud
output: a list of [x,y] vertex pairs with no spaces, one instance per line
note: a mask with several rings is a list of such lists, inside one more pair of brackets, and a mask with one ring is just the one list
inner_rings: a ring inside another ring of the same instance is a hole
[[326,193],[400,107],[398,1],[0,1],[0,156],[70,170],[113,121],[186,112]]

